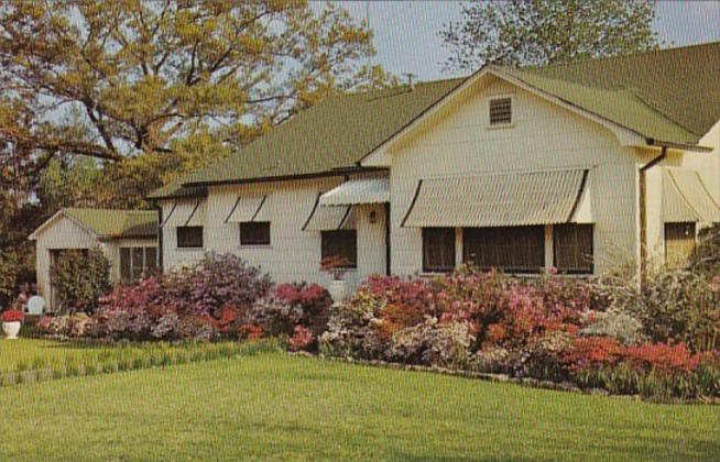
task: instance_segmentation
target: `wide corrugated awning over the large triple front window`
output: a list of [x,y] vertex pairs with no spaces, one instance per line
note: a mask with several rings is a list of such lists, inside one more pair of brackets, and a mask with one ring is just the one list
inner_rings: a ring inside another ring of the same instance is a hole
[[418,182],[403,227],[520,227],[591,222],[587,169]]

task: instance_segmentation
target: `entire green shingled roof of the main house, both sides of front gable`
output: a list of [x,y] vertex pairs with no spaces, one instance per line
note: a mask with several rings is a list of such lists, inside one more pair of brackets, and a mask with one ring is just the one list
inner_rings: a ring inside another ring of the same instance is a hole
[[[566,65],[491,69],[656,142],[697,144],[720,120],[720,43]],[[197,195],[216,183],[357,167],[362,157],[463,80],[328,97],[230,157],[150,197]]]

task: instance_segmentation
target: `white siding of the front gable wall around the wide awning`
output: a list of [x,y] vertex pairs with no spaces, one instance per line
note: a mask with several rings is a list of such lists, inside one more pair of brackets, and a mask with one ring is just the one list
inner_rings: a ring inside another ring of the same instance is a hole
[[[511,127],[490,127],[488,100],[493,95],[513,96]],[[461,98],[390,153],[393,273],[422,270],[421,230],[401,227],[417,182],[483,173],[591,169],[596,271],[634,257],[639,242],[633,148],[621,146],[599,124],[499,79],[479,82]]]

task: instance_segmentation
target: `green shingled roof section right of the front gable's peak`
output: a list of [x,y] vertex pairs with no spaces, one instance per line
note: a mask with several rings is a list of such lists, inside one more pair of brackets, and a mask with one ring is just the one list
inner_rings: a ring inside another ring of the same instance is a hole
[[655,141],[696,144],[720,120],[720,42],[499,70]]

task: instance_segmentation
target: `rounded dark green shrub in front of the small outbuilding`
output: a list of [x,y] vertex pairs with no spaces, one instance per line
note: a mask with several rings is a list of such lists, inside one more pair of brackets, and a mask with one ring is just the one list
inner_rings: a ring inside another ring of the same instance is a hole
[[110,264],[99,249],[64,251],[51,270],[51,279],[63,311],[91,312],[98,298],[110,290]]

